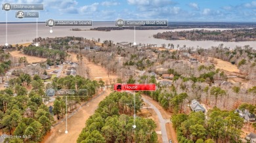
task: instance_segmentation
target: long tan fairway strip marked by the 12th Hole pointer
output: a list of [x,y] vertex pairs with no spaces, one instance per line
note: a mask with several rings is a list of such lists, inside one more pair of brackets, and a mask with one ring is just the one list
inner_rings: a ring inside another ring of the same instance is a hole
[[94,114],[98,103],[102,101],[106,96],[110,94],[110,89],[107,89],[103,95],[100,95],[96,99],[93,99],[85,106],[83,106],[74,116],[68,119],[68,134],[66,131],[66,122],[62,122],[51,129],[50,133],[47,133],[41,143],[70,143],[76,142],[79,134],[85,127],[86,120]]

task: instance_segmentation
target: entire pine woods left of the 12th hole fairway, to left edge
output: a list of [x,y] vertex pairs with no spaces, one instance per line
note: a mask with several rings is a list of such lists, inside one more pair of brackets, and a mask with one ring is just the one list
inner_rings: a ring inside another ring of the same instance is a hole
[[[7,142],[40,142],[44,135],[50,131],[54,116],[57,119],[64,118],[66,108],[68,112],[75,110],[81,101],[87,101],[98,90],[96,81],[85,79],[81,76],[66,76],[54,78],[53,84],[46,86],[40,76],[30,76],[20,73],[18,78],[9,80],[8,88],[0,91],[0,127],[9,135],[22,136],[21,138],[6,138]],[[28,91],[27,87],[32,87]],[[53,104],[53,114],[45,105],[49,97],[45,95],[45,89],[87,89],[88,97],[56,97]],[[66,107],[67,106],[67,107]]]

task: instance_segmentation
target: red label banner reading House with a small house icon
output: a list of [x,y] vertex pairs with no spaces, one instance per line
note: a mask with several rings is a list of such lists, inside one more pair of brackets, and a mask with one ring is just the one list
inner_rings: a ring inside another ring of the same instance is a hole
[[156,84],[115,84],[116,91],[155,91]]

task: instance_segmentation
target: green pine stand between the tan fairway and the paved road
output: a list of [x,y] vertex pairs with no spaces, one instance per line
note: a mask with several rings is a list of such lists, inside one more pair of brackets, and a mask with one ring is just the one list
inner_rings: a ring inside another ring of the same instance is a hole
[[[142,106],[139,93],[135,94],[136,112]],[[152,119],[137,117],[134,119],[133,95],[131,93],[113,92],[98,105],[95,114],[87,119],[85,128],[79,135],[77,143],[103,142],[157,142],[156,123]]]

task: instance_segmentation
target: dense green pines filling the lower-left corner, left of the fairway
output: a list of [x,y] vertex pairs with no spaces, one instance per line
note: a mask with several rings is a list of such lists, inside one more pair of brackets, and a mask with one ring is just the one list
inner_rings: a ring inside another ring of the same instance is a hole
[[[44,85],[39,76],[22,74],[0,91],[0,126],[3,133],[22,136],[5,138],[5,142],[39,142],[54,123],[49,108],[43,104]],[[28,93],[25,85],[32,84]]]

